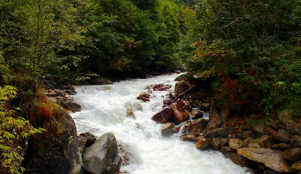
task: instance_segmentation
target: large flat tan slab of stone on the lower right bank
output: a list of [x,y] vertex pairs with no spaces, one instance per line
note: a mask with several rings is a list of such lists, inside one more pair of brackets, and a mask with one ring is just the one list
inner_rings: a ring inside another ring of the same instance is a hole
[[291,172],[290,164],[282,157],[282,151],[271,148],[245,147],[237,149],[237,153],[250,160],[261,162],[277,172]]

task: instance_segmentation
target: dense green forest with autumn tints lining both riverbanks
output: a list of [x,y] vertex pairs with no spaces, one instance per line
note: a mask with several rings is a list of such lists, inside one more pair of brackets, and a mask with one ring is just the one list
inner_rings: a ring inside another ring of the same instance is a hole
[[0,0],[0,172],[25,172],[27,139],[62,131],[49,79],[185,68],[219,109],[299,115],[300,37],[300,0]]

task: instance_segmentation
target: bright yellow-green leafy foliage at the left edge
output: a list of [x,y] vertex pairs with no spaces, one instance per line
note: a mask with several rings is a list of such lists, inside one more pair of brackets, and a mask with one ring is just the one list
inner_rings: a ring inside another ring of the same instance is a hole
[[[1,173],[23,173],[21,167],[24,159],[24,148],[27,139],[37,133],[42,133],[43,128],[34,128],[29,120],[17,116],[9,100],[15,98],[17,89],[13,86],[0,88],[0,156]],[[15,108],[16,110],[20,108]]]

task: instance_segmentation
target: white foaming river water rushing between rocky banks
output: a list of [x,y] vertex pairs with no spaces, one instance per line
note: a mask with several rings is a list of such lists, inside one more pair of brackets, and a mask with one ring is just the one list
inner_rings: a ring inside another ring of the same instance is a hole
[[[78,133],[89,131],[97,136],[112,132],[117,142],[131,153],[131,163],[121,166],[132,174],[218,174],[248,173],[222,153],[201,151],[193,142],[183,142],[179,134],[161,135],[161,124],[151,118],[162,109],[167,91],[153,91],[150,102],[136,97],[150,84],[172,84],[178,74],[147,79],[133,79],[112,85],[80,86],[74,95],[82,105],[81,112],[72,113]],[[174,88],[171,88],[173,90]],[[136,119],[126,117],[125,103],[133,105]],[[143,110],[136,107],[142,105]]]

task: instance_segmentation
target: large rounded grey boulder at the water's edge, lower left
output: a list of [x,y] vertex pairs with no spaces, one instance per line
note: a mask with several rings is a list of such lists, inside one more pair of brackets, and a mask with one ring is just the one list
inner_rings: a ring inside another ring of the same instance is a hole
[[114,134],[105,133],[86,149],[82,166],[88,173],[118,173],[122,159],[117,151]]

